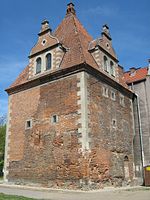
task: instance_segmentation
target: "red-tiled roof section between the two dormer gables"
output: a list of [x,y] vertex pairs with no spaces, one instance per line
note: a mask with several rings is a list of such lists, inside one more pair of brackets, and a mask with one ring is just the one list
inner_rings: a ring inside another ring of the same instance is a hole
[[61,68],[67,68],[81,63],[87,63],[98,68],[94,58],[88,52],[92,37],[77,19],[76,15],[66,15],[54,33],[60,43],[68,47]]

